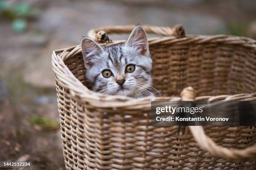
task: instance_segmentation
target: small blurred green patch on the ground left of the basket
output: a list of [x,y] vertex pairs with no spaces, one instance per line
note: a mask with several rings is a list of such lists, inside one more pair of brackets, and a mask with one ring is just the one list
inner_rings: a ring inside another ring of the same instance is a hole
[[54,122],[48,118],[43,118],[39,116],[33,116],[29,118],[31,125],[38,125],[45,130],[58,130],[60,125],[58,122]]

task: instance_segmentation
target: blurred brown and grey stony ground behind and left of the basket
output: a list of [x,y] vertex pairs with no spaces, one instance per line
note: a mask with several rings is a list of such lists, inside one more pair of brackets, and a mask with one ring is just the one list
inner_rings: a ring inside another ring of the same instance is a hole
[[254,0],[1,0],[0,160],[64,170],[53,50],[92,28],[138,23],[255,39],[255,11]]

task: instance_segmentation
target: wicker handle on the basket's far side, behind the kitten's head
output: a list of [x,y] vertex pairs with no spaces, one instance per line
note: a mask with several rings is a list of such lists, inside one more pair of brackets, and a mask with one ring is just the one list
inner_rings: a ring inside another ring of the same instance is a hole
[[[169,27],[157,27],[152,25],[141,25],[147,33],[153,33],[163,36],[174,36],[177,38],[185,37],[184,27],[180,24],[175,25],[173,28]],[[122,34],[131,33],[136,25],[115,25],[107,26],[90,30],[87,35],[97,42],[107,42],[109,40],[108,34]]]

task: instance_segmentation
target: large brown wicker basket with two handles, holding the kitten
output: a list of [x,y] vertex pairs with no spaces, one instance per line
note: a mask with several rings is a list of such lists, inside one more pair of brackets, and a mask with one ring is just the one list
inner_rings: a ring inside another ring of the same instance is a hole
[[[256,100],[255,40],[228,35],[182,37],[181,26],[143,27],[147,33],[164,35],[148,42],[152,75],[159,78],[154,87],[165,96]],[[104,27],[88,35],[98,40],[100,30],[128,33],[133,28]],[[80,45],[54,51],[52,66],[67,170],[256,169],[256,128],[154,127],[150,125],[151,100],[173,97],[133,99],[89,90]]]

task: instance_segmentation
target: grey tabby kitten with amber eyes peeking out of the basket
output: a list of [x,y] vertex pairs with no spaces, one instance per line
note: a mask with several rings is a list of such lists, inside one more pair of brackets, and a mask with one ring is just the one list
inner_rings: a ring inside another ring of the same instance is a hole
[[81,41],[86,79],[92,90],[108,95],[154,96],[151,86],[152,59],[146,31],[137,26],[127,42],[101,47],[84,37]]

